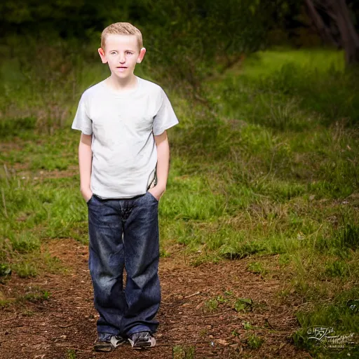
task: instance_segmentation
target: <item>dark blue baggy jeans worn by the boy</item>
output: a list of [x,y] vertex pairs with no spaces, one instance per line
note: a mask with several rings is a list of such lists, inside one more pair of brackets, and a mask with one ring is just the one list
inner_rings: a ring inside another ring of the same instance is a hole
[[88,229],[99,337],[156,332],[161,302],[157,199],[148,191],[122,199],[94,194],[88,201]]

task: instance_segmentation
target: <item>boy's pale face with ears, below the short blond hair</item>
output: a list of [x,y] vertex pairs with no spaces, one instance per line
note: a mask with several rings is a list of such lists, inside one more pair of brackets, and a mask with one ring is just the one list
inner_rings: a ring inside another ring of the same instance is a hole
[[108,63],[113,76],[126,79],[133,76],[136,64],[142,62],[146,49],[140,50],[135,35],[109,34],[105,48],[99,48],[102,63]]

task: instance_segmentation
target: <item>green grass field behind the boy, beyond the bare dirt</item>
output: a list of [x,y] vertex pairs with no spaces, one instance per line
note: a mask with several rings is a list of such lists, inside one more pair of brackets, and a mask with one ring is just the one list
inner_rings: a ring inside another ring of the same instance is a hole
[[[308,320],[332,326],[339,320],[358,332],[358,323],[335,299],[341,294],[354,300],[353,283],[359,278],[358,77],[344,72],[342,56],[332,50],[258,53],[204,84],[210,107],[169,93],[179,125],[168,131],[171,163],[159,206],[161,254],[171,257],[179,245],[194,265],[253,257],[248,271],[261,275],[271,272],[262,258],[276,255],[273,261],[287,276],[278,300],[295,295],[320,303],[302,314],[303,328]],[[58,74],[60,83],[67,79],[78,85],[71,96],[52,95],[57,112],[47,108],[48,95],[34,98],[41,88],[37,80],[26,83],[30,90],[19,90],[16,66],[10,70],[5,60],[1,64],[6,98],[16,99],[8,107],[0,102],[1,280],[10,271],[32,277],[59,270],[56,258],[43,255],[42,264],[36,258],[48,238],[87,242],[79,133],[69,128],[82,90],[105,72],[88,64],[80,73],[76,61],[69,63],[73,72]],[[243,303],[223,295],[205,306],[208,311],[222,304],[250,309]],[[300,333],[297,337],[304,338]],[[298,346],[314,350],[301,340],[296,339]],[[259,344],[255,337],[248,343]]]

